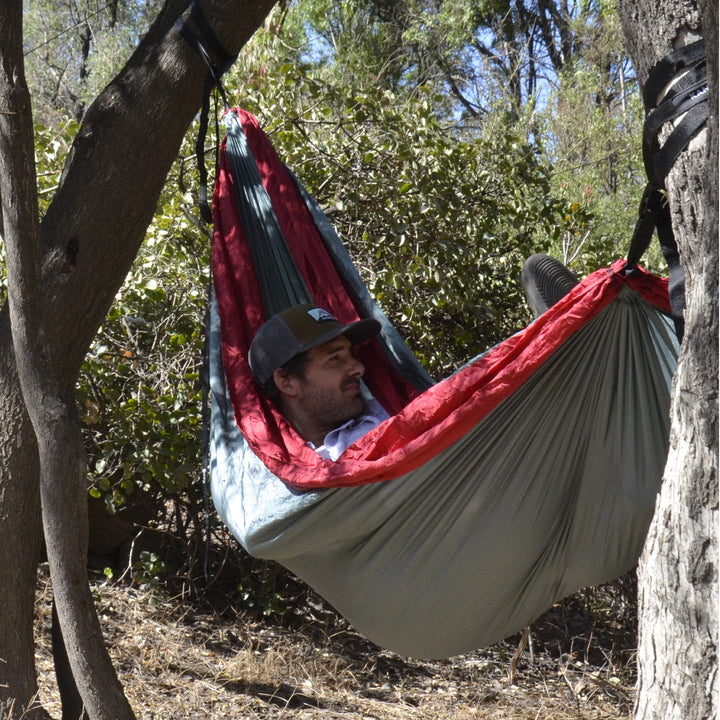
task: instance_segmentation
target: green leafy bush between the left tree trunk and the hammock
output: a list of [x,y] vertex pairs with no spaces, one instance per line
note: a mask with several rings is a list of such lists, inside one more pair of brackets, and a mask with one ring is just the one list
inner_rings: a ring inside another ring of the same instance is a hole
[[[209,243],[178,182],[178,161],[147,240],[83,365],[78,402],[90,493],[112,512],[135,493],[188,521],[200,494],[201,383]],[[194,528],[198,531],[199,528]],[[181,535],[181,536],[184,536]]]

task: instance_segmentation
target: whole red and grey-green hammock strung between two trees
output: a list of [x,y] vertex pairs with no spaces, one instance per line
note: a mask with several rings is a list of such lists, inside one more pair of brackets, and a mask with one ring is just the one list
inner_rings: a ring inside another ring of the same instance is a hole
[[[214,194],[211,491],[254,556],[378,645],[450,657],[637,561],[667,455],[667,282],[601,269],[433,384],[257,121],[226,115]],[[312,301],[378,319],[358,347],[392,417],[322,460],[255,386],[264,319]]]

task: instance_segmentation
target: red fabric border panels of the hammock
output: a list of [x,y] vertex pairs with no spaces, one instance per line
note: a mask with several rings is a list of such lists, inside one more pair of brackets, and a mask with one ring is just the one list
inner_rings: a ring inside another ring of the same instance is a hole
[[[303,198],[257,120],[237,112],[281,230],[314,302],[341,322],[358,318]],[[310,449],[253,381],[247,350],[264,322],[260,289],[238,219],[233,178],[221,148],[214,193],[212,267],[222,327],[223,364],[235,418],[253,452],[289,485],[316,489],[362,485],[405,475],[448,448],[530,377],[573,333],[611,303],[624,284],[669,312],[667,280],[624,261],[590,275],[525,330],[422,395],[405,381],[375,342],[357,348],[365,380],[393,413],[335,462]]]

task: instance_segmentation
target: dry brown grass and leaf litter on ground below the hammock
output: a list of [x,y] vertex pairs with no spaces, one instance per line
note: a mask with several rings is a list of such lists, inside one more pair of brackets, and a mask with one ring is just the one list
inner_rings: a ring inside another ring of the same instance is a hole
[[[600,720],[630,718],[632,663],[603,638],[568,635],[558,606],[518,638],[445,661],[418,661],[364,640],[313,600],[295,623],[260,622],[98,581],[106,640],[139,719]],[[60,717],[49,640],[49,580],[38,585],[39,701]],[[562,626],[562,627],[561,627]],[[591,631],[593,632],[593,631]],[[624,658],[618,663],[615,656]]]

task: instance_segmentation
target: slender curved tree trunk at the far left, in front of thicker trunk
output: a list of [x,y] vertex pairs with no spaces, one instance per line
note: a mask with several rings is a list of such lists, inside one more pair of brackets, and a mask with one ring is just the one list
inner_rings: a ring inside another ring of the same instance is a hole
[[[0,37],[8,62],[0,73],[0,178],[4,188],[3,237],[8,308],[15,364],[38,444],[40,500],[58,616],[68,628],[66,645],[74,676],[92,717],[132,718],[105,651],[88,586],[85,462],[73,388],[61,384],[47,342],[40,284],[42,247],[35,186],[30,93],[25,83],[22,3],[0,11]],[[82,632],[73,629],[82,628]],[[76,718],[80,709],[75,712]]]

